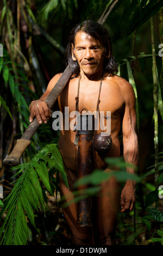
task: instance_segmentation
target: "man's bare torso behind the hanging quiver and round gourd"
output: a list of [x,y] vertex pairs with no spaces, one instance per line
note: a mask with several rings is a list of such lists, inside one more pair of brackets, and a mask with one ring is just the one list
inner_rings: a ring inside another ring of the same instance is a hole
[[[64,114],[65,107],[69,107],[69,114],[72,111],[76,110],[76,96],[78,92],[78,80],[79,78],[74,78],[66,85],[64,90],[59,96],[58,102],[60,111]],[[106,113],[107,111],[111,112],[111,137],[112,137],[112,148],[109,153],[103,155],[104,157],[117,157],[120,155],[120,143],[118,140],[118,133],[121,126],[121,117],[124,110],[124,97],[121,90],[121,81],[122,78],[118,76],[114,77],[104,77],[101,94],[100,94],[100,103],[99,111],[104,112],[105,115],[105,125],[106,125]],[[99,84],[100,81],[91,81],[85,83],[84,81],[80,82],[79,88],[79,113],[83,108],[86,108],[92,113],[96,111],[97,101],[99,95]],[[70,118],[70,122],[74,120],[74,117]],[[95,131],[99,133],[101,130]],[[74,145],[76,132],[72,129],[68,131],[60,131],[59,136],[59,149],[64,158],[66,167],[70,170],[75,170],[75,159],[76,159],[76,146]],[[96,168],[105,168],[106,164],[104,163],[102,157],[100,157],[97,152],[95,153]]]

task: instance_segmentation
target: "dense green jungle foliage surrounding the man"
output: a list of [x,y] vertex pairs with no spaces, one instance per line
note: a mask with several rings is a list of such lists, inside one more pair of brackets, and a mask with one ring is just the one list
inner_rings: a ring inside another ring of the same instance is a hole
[[[135,210],[119,216],[117,245],[163,244],[162,5],[161,0],[1,1],[1,245],[71,244],[58,193],[59,173],[68,186],[67,177],[52,120],[39,127],[20,165],[8,168],[3,159],[28,127],[30,102],[64,71],[68,34],[85,19],[101,21],[108,29],[118,75],[132,84],[136,96],[137,173],[128,176],[123,154],[120,160],[106,159],[109,166],[121,168],[116,178],[122,186],[128,178],[137,181]],[[123,152],[121,135],[120,142]],[[87,196],[93,196],[98,184],[109,178],[95,170],[79,182],[90,183]]]

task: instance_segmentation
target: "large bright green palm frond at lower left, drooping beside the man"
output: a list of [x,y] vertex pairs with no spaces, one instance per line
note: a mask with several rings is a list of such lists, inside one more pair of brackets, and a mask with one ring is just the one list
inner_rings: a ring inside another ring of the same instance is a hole
[[[20,166],[17,167],[17,173],[19,174],[20,170],[22,170]],[[5,199],[0,212],[0,221],[4,213],[7,212],[0,230],[1,245],[27,244],[28,227],[26,215],[35,227],[33,210],[38,210],[38,208],[41,209],[42,207],[45,212],[45,203],[39,178],[49,193],[52,194],[48,168],[53,167],[54,172],[57,169],[64,177],[65,184],[68,185],[62,157],[57,144],[53,142],[42,148],[29,163],[23,164],[23,167],[21,176],[17,179],[14,188]]]

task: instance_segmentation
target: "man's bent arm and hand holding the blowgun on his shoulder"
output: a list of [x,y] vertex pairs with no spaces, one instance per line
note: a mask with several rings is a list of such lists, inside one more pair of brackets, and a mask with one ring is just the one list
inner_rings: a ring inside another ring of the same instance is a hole
[[52,117],[52,111],[49,108],[48,104],[45,102],[45,100],[49,95],[49,93],[51,92],[51,90],[53,89],[53,87],[55,86],[55,84],[57,83],[57,81],[59,80],[60,76],[61,76],[61,73],[55,75],[51,79],[51,81],[48,83],[46,92],[40,97],[40,99],[34,100],[30,103],[29,105],[29,112],[30,112],[29,122],[30,123],[32,123],[34,117],[36,117],[37,122],[39,124],[42,124],[42,123],[46,124],[47,120]]

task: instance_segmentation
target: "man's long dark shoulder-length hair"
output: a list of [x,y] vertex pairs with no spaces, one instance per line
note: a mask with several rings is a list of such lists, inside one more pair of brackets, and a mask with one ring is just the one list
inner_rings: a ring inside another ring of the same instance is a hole
[[105,47],[106,55],[110,51],[110,57],[104,59],[104,71],[108,72],[110,76],[114,76],[115,74],[117,74],[118,68],[117,68],[115,59],[112,56],[111,38],[107,29],[97,22],[86,20],[76,25],[76,27],[72,29],[69,40],[68,40],[68,45],[66,47],[65,60],[66,60],[66,63],[69,64],[70,69],[72,70],[75,77],[79,76],[80,68],[77,60],[74,61],[72,59],[71,46],[72,44],[74,45],[74,39],[76,37],[76,34],[79,31],[85,32],[93,36],[93,38],[95,38],[96,40],[99,40],[103,43]]

